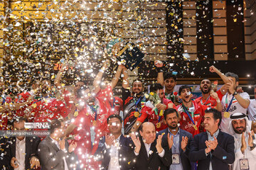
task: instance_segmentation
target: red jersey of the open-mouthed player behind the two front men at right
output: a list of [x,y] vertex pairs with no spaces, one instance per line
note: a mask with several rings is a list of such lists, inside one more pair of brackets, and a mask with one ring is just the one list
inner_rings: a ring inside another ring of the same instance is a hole
[[192,103],[193,109],[191,109],[191,111],[188,111],[188,114],[190,114],[191,118],[193,118],[193,122],[196,124],[196,129],[193,127],[193,122],[189,118],[182,104],[178,106],[178,113],[179,115],[181,115],[179,128],[181,128],[182,130],[186,130],[187,132],[190,132],[194,136],[200,132],[205,131],[202,123],[203,116],[205,115],[205,111],[206,108],[208,108],[208,106],[198,105],[195,101],[192,101]]

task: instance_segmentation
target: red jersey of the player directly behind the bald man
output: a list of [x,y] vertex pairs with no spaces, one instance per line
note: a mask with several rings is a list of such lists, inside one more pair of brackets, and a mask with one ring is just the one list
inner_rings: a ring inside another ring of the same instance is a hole
[[[166,109],[168,108],[169,104],[172,104],[173,108],[176,109],[176,106],[174,105],[174,103],[167,98],[163,98],[163,103],[166,105]],[[149,122],[155,125],[156,131],[159,132],[167,128],[167,125],[164,123],[163,114],[164,114],[163,111],[158,111],[158,110],[156,114],[155,111],[152,111],[152,108],[150,108],[149,106],[146,106],[145,104],[145,106],[142,108],[142,115],[141,117],[137,118],[137,121],[143,123],[144,120],[147,118]]]

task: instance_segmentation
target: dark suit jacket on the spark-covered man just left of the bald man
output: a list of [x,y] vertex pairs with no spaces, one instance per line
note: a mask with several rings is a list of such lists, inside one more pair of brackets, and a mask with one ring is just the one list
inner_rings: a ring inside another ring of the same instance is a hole
[[[118,156],[121,170],[132,169],[132,158],[135,157],[132,139],[121,135],[119,139],[119,147]],[[100,157],[104,169],[108,169],[110,164],[110,149],[111,148],[107,149],[105,146],[105,137],[102,137],[97,152],[95,152],[95,156]]]

